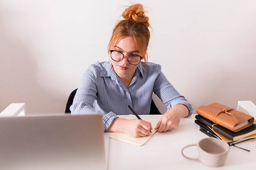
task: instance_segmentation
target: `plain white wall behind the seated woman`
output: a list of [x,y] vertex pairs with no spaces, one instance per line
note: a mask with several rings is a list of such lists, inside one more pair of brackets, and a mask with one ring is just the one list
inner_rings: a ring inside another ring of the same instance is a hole
[[[255,0],[133,2],[153,27],[149,61],[195,109],[256,103]],[[64,112],[88,65],[109,60],[123,5],[130,0],[0,0],[0,111],[26,103],[28,113]]]

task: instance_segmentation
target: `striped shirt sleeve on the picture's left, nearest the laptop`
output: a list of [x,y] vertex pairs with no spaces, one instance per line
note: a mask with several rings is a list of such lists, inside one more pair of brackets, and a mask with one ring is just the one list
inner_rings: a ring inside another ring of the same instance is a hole
[[73,104],[70,106],[72,115],[100,114],[102,115],[104,130],[108,130],[112,122],[118,117],[115,113],[101,113],[94,110],[94,101],[97,97],[97,79],[99,71],[95,64],[90,65],[83,74],[80,86],[76,91]]

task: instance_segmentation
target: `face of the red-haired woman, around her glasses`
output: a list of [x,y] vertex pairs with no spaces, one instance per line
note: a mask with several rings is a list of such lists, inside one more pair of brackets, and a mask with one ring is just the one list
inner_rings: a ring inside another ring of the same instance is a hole
[[112,61],[114,71],[120,78],[132,78],[138,65],[132,65],[128,62],[128,55],[140,55],[135,41],[132,37],[121,38],[111,50],[116,50],[123,53],[124,59],[120,62]]

